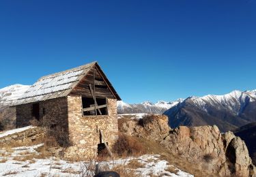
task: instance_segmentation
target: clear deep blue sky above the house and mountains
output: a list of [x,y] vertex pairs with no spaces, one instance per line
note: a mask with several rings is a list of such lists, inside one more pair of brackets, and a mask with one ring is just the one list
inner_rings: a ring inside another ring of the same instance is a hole
[[128,103],[256,89],[256,1],[0,1],[0,88],[91,61]]

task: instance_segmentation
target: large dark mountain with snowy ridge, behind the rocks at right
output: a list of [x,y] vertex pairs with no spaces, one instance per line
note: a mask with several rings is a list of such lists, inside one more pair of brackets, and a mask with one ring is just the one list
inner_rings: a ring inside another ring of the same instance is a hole
[[188,97],[164,112],[169,125],[217,125],[229,131],[256,122],[256,91],[233,91],[226,95]]

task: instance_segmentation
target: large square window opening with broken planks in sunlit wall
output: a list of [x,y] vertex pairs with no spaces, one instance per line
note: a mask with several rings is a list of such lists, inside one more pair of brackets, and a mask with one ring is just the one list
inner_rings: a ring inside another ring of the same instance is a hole
[[83,115],[107,115],[108,110],[106,106],[106,99],[96,98],[96,112],[94,106],[94,99],[89,97],[82,97]]

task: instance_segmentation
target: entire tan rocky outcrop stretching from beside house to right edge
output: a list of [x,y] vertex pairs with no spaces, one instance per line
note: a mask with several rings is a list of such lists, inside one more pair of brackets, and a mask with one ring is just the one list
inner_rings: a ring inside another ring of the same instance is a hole
[[168,127],[167,116],[128,120],[119,129],[129,135],[158,141],[176,155],[218,176],[255,176],[255,167],[244,141],[218,127]]

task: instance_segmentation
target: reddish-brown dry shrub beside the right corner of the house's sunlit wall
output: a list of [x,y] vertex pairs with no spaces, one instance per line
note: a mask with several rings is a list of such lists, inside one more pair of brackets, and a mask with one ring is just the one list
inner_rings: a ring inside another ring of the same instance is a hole
[[145,147],[137,138],[120,133],[113,146],[113,152],[120,156],[142,155],[145,153]]

